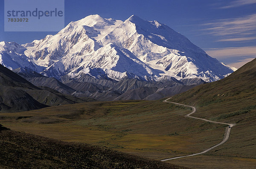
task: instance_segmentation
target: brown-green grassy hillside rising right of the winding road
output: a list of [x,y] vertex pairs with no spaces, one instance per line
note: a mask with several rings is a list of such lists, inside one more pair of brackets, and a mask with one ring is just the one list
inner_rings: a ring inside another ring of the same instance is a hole
[[196,117],[236,123],[230,140],[207,154],[256,159],[256,59],[222,80],[197,86],[171,100],[196,106]]

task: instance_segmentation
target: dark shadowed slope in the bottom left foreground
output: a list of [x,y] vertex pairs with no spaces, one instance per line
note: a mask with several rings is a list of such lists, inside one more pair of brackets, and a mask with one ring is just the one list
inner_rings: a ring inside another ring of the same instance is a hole
[[84,143],[15,132],[0,125],[0,168],[187,169]]

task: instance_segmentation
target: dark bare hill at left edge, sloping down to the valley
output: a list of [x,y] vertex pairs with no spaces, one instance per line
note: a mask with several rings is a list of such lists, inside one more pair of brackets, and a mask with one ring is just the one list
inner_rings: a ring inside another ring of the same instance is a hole
[[84,101],[50,88],[37,87],[0,65],[0,112],[20,112]]

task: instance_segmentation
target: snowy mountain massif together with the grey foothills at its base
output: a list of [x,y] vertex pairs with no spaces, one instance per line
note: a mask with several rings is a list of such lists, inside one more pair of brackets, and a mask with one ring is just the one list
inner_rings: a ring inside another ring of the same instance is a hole
[[160,99],[236,70],[135,15],[90,15],[32,43],[0,42],[0,63],[35,86],[96,100]]

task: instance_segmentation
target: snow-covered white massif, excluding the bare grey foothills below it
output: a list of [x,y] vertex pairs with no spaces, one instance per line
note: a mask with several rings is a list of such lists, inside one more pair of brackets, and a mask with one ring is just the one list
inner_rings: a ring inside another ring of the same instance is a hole
[[15,44],[14,49],[6,44],[0,43],[4,66],[26,66],[57,79],[89,74],[97,79],[158,81],[170,76],[215,81],[233,72],[165,24],[135,15],[125,21],[90,15],[42,40],[22,46],[8,43]]

